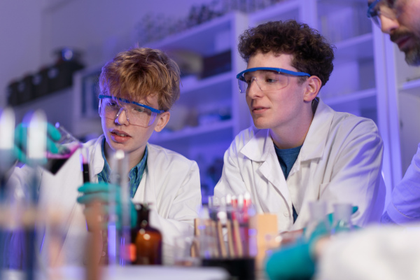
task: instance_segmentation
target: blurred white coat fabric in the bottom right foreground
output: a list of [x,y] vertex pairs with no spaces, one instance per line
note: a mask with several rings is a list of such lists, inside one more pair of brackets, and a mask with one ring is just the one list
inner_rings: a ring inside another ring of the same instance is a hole
[[317,280],[420,279],[420,224],[368,227],[332,237],[321,251]]

